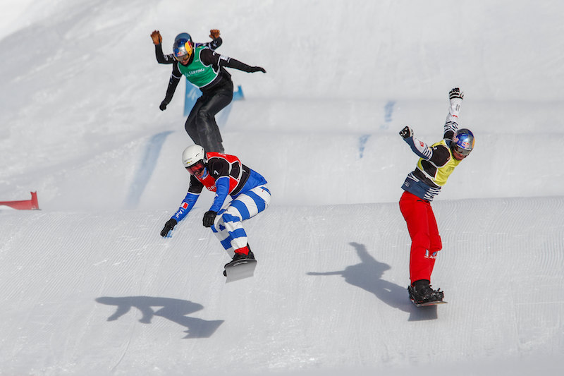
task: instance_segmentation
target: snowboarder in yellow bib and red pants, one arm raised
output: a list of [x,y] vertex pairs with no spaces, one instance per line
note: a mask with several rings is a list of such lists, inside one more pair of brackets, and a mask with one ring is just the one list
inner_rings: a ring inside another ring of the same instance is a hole
[[466,128],[458,129],[458,113],[464,93],[458,87],[450,90],[450,107],[444,125],[443,140],[429,146],[413,137],[406,126],[400,136],[419,157],[417,168],[407,175],[400,198],[400,211],[411,238],[410,286],[407,291],[416,305],[443,301],[441,289],[431,288],[431,273],[436,255],[443,248],[431,201],[439,194],[448,176],[474,148],[474,135]]

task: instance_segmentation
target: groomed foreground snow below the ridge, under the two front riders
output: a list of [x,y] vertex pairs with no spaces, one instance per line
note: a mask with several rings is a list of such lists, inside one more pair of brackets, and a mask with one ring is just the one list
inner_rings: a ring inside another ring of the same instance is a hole
[[[271,207],[247,226],[255,278],[230,285],[204,208],[171,238],[166,212],[5,212],[3,371],[185,371],[157,364],[155,348],[195,373],[562,353],[564,198],[433,205],[444,247],[432,282],[450,304],[431,310],[407,300],[397,203]],[[242,348],[271,360],[259,368]]]

